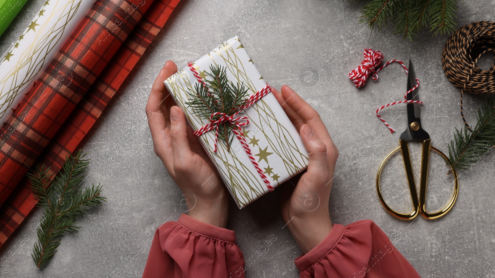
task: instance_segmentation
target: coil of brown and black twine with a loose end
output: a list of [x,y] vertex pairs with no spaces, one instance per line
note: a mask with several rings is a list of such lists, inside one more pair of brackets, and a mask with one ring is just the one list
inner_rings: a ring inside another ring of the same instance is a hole
[[487,52],[495,55],[494,21],[477,21],[462,26],[448,38],[442,51],[445,74],[461,90],[461,117],[469,130],[471,127],[466,122],[462,105],[464,93],[495,93],[495,61],[488,71],[476,66],[478,59]]

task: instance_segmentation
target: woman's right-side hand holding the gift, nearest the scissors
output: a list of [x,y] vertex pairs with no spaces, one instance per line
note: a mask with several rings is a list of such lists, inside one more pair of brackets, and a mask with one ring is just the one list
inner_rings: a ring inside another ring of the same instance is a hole
[[[282,218],[306,254],[332,230],[328,202],[339,151],[320,115],[289,86],[272,89],[309,152],[307,171],[284,184]],[[294,183],[297,185],[294,186]]]

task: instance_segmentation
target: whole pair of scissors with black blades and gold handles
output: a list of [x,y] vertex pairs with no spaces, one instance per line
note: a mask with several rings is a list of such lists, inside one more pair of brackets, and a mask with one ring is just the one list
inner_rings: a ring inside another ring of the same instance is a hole
[[[411,88],[413,88],[415,84],[416,84],[416,78],[414,76],[414,69],[412,67],[411,61],[409,60],[409,71],[407,73],[407,92],[409,92],[409,90],[411,90]],[[417,90],[414,91],[414,93],[412,92],[408,93],[407,100],[419,100]],[[446,215],[446,213],[450,211],[450,209],[455,203],[455,200],[457,199],[458,188],[459,188],[459,184],[457,180],[457,172],[455,172],[455,169],[451,168],[454,176],[454,195],[450,200],[450,202],[448,203],[448,205],[444,209],[438,212],[428,213],[426,211],[426,187],[428,182],[428,166],[430,162],[430,151],[434,150],[438,152],[445,159],[448,165],[450,166],[452,165],[450,164],[450,161],[448,160],[447,156],[444,153],[442,153],[440,150],[430,145],[431,144],[430,135],[428,135],[428,133],[424,131],[423,127],[421,126],[421,119],[419,117],[420,116],[419,103],[407,103],[406,105],[407,105],[407,129],[400,135],[399,147],[393,150],[382,162],[382,165],[380,165],[380,169],[378,170],[378,174],[376,175],[376,191],[378,193],[378,197],[380,198],[380,202],[382,203],[383,207],[390,214],[392,214],[397,218],[411,220],[416,218],[419,212],[426,219],[436,219]],[[418,201],[418,195],[416,193],[414,176],[412,174],[411,157],[409,155],[409,148],[407,146],[407,142],[409,141],[423,142],[423,148],[421,152],[421,181],[419,188],[419,201]],[[414,210],[409,214],[398,213],[395,210],[391,209],[383,199],[382,192],[380,190],[380,175],[382,173],[382,169],[385,163],[387,162],[387,160],[398,150],[402,152],[402,159],[404,161],[407,183],[409,184],[409,191],[411,193],[412,204],[414,206]]]

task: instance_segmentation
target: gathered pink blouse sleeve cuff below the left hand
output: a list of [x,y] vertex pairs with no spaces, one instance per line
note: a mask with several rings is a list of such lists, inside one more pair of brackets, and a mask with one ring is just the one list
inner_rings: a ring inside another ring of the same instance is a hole
[[244,266],[234,231],[182,214],[156,230],[143,277],[244,278]]

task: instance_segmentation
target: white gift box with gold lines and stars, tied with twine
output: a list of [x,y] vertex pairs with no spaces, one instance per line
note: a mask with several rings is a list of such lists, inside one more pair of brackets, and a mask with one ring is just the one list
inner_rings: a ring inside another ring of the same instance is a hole
[[[218,100],[203,99],[219,92],[213,90],[218,85],[212,83],[215,69],[223,71],[239,98],[243,96],[242,105],[230,114],[214,113],[213,106],[222,106],[219,95]],[[164,83],[239,208],[306,169],[302,139],[237,36]],[[199,111],[198,101],[213,108]]]

